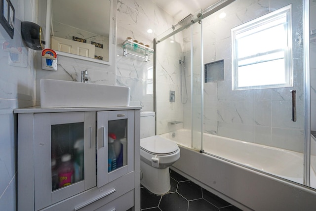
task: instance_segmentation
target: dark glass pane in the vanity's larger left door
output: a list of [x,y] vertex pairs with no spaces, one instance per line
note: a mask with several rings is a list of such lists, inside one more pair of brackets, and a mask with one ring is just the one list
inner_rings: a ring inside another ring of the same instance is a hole
[[84,180],[84,124],[51,126],[52,191]]

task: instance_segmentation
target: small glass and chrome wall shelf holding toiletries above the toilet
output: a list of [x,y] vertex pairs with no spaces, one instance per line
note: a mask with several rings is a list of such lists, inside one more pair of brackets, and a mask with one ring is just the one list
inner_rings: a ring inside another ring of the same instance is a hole
[[[128,53],[127,50],[131,50],[137,53],[140,53],[144,56],[140,56],[137,54],[133,54],[133,53]],[[123,42],[123,56],[127,56],[127,54],[132,55],[132,56],[137,56],[140,58],[145,59],[145,62],[150,61],[150,59],[148,58],[149,55],[152,55],[154,53],[154,49],[147,47],[145,45],[139,44],[137,42],[133,42],[130,40],[125,40]]]

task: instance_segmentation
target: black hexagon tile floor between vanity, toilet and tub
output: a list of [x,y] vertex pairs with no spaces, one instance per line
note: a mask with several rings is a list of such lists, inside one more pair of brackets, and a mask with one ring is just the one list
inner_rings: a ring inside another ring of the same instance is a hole
[[161,196],[142,186],[141,211],[241,211],[173,170],[170,183],[170,191]]

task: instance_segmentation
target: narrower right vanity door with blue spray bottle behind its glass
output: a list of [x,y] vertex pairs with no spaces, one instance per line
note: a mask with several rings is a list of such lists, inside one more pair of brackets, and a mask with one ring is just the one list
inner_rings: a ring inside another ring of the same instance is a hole
[[97,186],[134,169],[134,111],[97,112]]

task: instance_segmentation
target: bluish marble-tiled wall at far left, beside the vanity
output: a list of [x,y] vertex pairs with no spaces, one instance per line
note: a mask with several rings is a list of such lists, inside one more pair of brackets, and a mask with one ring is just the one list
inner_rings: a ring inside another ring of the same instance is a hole
[[[14,37],[0,26],[0,210],[16,209],[16,116],[13,109],[35,104],[34,58],[21,38],[21,21],[36,21],[35,0],[11,0],[15,9]],[[5,47],[2,47],[5,46]],[[6,49],[5,49],[6,48]],[[10,52],[18,52],[17,60]]]

